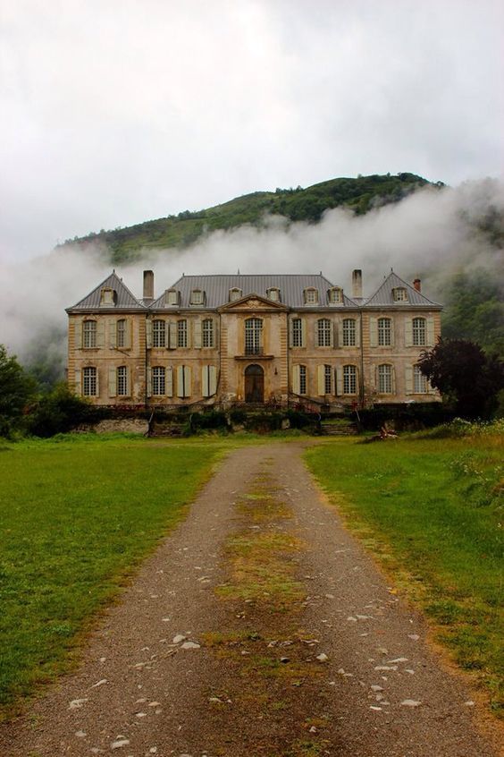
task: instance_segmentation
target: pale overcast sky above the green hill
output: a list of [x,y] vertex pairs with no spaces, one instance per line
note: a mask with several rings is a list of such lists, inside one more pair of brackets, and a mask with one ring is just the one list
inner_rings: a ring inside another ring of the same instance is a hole
[[501,0],[5,0],[0,259],[335,176],[501,176]]

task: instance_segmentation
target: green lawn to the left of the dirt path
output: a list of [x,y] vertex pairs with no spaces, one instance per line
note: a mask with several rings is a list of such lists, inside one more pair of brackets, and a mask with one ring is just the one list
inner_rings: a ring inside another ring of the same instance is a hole
[[178,522],[222,449],[0,442],[0,709],[68,667],[89,618]]

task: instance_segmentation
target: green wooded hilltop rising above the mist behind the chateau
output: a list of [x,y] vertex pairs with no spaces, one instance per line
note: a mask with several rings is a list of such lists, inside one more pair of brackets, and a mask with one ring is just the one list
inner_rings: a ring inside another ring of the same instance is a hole
[[[324,210],[345,206],[357,215],[371,208],[399,202],[418,187],[428,184],[415,174],[357,176],[331,179],[307,189],[256,191],[214,208],[189,211],[178,216],[156,218],[143,224],[100,231],[66,240],[63,245],[86,248],[92,242],[104,246],[111,263],[139,259],[142,251],[160,247],[187,247],[202,234],[243,224],[259,225],[265,214],[277,214],[292,221],[316,222]],[[439,183],[438,185],[442,185]]]

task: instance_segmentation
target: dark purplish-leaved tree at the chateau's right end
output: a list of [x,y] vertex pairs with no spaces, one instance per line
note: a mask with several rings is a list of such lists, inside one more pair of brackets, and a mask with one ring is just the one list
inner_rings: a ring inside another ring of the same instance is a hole
[[475,342],[440,339],[422,353],[418,366],[431,385],[455,405],[458,415],[489,418],[504,388],[504,362]]

